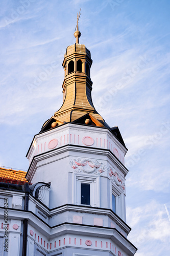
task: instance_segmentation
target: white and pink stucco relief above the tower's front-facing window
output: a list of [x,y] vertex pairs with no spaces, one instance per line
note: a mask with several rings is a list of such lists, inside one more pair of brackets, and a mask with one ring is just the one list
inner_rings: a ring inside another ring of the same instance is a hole
[[76,173],[84,172],[86,174],[102,175],[107,169],[106,165],[98,160],[92,161],[91,159],[73,159],[69,164]]

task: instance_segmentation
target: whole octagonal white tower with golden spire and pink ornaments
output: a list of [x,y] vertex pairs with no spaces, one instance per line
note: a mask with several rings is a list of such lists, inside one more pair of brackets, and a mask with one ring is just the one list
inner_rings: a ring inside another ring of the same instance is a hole
[[10,218],[18,220],[20,210],[18,224],[11,226],[22,230],[18,256],[21,250],[29,256],[136,252],[127,239],[127,148],[118,127],[110,128],[92,103],[92,59],[79,44],[79,17],[76,43],[67,47],[62,63],[63,104],[33,138],[27,153],[29,184],[14,189],[19,204],[13,204]]

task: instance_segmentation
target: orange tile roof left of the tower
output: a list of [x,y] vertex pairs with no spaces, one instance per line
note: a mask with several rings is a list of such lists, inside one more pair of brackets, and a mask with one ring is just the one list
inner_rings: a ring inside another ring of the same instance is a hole
[[[0,168],[0,181],[9,183],[26,183],[28,180],[25,178],[27,172],[22,170]],[[4,181],[3,181],[4,180]]]

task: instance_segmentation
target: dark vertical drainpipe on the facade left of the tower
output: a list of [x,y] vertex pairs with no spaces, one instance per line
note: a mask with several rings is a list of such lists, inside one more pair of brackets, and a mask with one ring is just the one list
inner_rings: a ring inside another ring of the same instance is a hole
[[[28,204],[29,204],[29,184],[25,183],[23,185],[23,191],[25,191],[25,204],[24,210],[28,211]],[[22,256],[27,255],[27,230],[28,230],[28,220],[23,220],[23,244],[22,244]]]

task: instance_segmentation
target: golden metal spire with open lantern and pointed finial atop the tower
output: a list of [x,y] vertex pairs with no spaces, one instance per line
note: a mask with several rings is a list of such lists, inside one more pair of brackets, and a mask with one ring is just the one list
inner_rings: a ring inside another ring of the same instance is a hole
[[102,116],[96,112],[92,102],[92,81],[90,78],[92,59],[90,51],[85,45],[79,44],[79,37],[81,36],[79,18],[80,12],[77,15],[74,33],[76,44],[67,47],[62,63],[65,73],[62,84],[63,104],[54,113],[54,116],[43,124],[41,132],[67,122],[76,122],[79,119],[81,119],[81,121],[79,120],[80,123],[109,127]]

